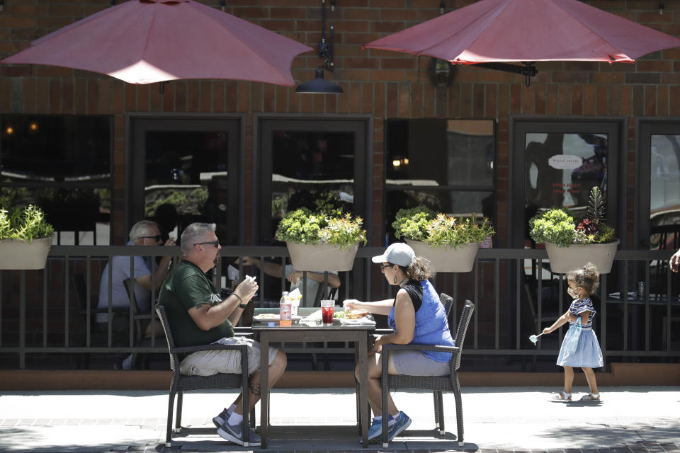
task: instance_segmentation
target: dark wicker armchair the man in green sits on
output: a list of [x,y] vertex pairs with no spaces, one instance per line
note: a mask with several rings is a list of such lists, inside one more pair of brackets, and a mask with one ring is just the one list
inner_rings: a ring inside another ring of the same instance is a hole
[[[177,437],[181,435],[189,435],[192,433],[205,433],[205,428],[182,428],[182,396],[184,391],[188,390],[205,390],[205,389],[241,389],[243,392],[243,407],[248,407],[248,352],[246,345],[200,345],[200,346],[186,346],[181,348],[175,347],[175,342],[172,338],[171,330],[168,326],[167,316],[165,314],[165,307],[156,304],[156,313],[161,321],[165,338],[168,341],[168,350],[170,352],[170,368],[172,369],[172,380],[170,382],[170,399],[168,404],[168,423],[167,436],[165,446],[170,447],[172,442],[172,412],[175,402],[175,395],[177,395],[177,414],[175,420],[174,432]],[[242,372],[234,374],[218,373],[212,376],[183,376],[179,372],[180,355],[190,352],[204,351],[204,350],[220,350],[231,349],[241,351],[241,369]],[[254,425],[255,411],[243,411],[243,428],[244,428],[244,447],[248,447],[250,430],[249,426]],[[215,428],[211,428],[215,430]]]

